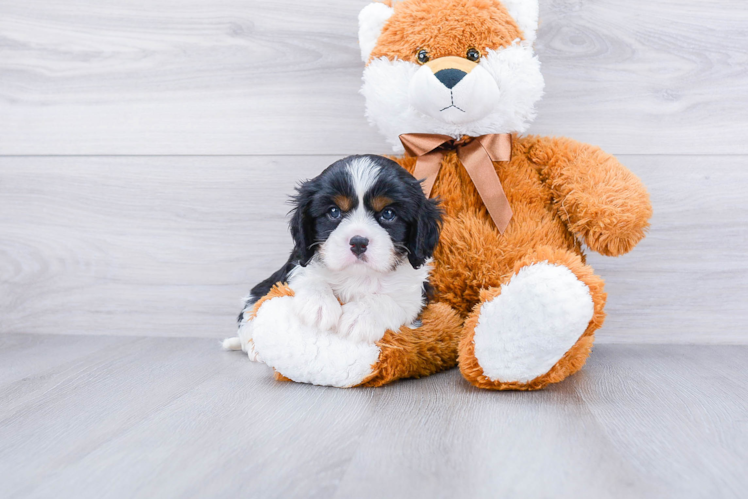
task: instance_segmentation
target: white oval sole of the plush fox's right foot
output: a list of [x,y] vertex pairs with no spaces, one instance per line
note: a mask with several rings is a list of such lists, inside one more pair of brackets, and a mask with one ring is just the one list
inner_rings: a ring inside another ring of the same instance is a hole
[[524,267],[481,306],[475,357],[491,380],[529,382],[576,343],[593,313],[589,288],[567,267]]

